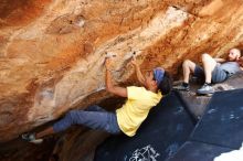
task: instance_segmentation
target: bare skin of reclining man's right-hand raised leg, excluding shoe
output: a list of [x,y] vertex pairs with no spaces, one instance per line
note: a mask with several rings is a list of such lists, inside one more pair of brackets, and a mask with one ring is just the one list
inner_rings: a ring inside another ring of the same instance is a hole
[[205,83],[211,84],[212,71],[216,66],[216,62],[209,54],[202,54],[202,64],[205,74]]

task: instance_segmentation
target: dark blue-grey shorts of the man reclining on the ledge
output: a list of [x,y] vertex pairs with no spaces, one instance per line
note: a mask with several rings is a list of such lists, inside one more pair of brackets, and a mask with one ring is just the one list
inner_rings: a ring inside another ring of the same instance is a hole
[[[205,80],[204,69],[196,65],[194,74],[196,77],[200,78],[201,80]],[[229,77],[229,74],[220,68],[220,65],[216,65],[212,72],[212,83],[222,83]]]

